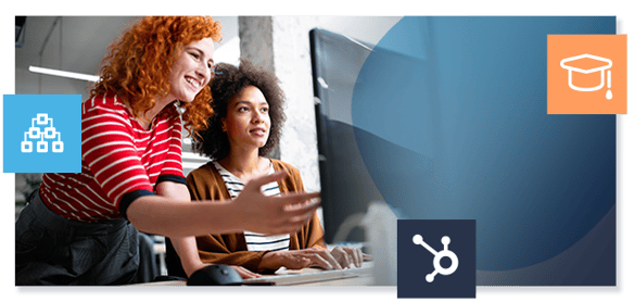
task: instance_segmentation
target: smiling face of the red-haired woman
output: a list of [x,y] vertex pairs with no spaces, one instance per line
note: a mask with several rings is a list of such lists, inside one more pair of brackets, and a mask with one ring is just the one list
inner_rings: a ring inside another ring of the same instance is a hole
[[169,73],[169,100],[191,102],[212,79],[214,40],[204,38],[182,48]]

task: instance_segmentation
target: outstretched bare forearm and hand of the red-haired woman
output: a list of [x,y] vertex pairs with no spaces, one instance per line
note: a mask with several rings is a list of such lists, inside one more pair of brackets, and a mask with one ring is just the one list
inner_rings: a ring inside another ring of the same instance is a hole
[[310,219],[319,202],[306,201],[318,198],[319,193],[263,194],[263,185],[286,176],[286,173],[276,173],[253,179],[237,199],[225,202],[189,202],[143,196],[128,206],[126,214],[140,231],[167,237],[242,230],[267,235],[292,234]]

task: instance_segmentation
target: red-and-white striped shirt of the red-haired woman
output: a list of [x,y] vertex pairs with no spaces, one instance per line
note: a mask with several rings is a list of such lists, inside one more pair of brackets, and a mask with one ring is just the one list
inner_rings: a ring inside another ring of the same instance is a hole
[[119,205],[153,194],[157,183],[186,184],[181,127],[180,116],[158,115],[145,130],[116,96],[89,99],[81,109],[81,173],[45,174],[42,201],[69,219],[121,218]]

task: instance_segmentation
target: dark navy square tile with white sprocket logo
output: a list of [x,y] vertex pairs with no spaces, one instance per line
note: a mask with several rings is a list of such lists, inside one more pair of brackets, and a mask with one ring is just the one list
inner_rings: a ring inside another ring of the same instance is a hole
[[473,300],[476,221],[398,219],[398,300]]

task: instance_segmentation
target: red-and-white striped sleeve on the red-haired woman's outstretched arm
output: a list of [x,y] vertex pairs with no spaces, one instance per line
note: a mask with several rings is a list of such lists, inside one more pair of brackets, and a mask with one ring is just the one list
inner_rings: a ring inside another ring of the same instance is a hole
[[123,106],[86,101],[81,110],[81,155],[107,201],[119,209],[124,194],[153,191]]

